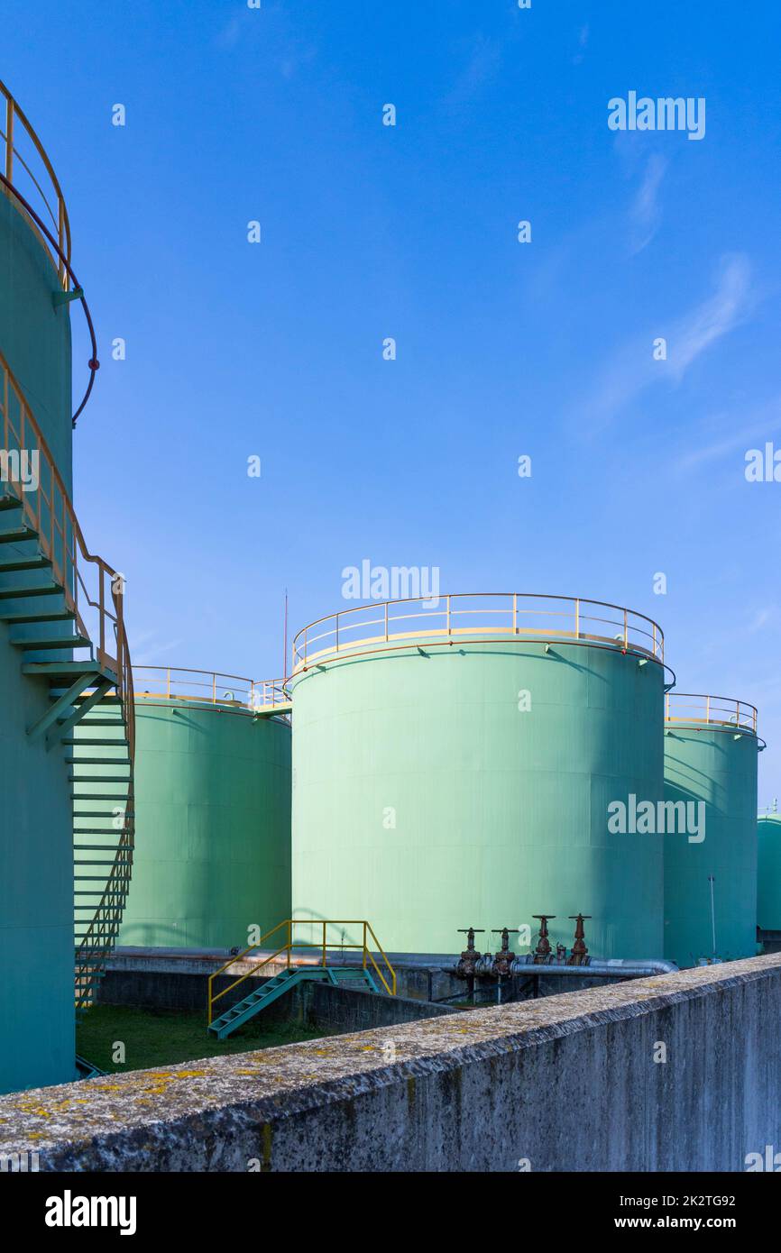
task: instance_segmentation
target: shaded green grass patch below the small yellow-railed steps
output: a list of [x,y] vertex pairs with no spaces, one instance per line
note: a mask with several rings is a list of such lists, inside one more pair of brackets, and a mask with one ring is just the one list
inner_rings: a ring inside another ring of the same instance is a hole
[[[315,1031],[300,1022],[263,1022],[262,1015],[247,1022],[227,1040],[217,1040],[206,1030],[202,1012],[148,1010],[129,1005],[94,1005],[76,1027],[76,1053],[109,1074],[170,1066],[177,1061],[223,1058],[253,1049],[273,1049],[300,1040],[317,1040]],[[125,1060],[112,1060],[114,1045],[122,1041]]]

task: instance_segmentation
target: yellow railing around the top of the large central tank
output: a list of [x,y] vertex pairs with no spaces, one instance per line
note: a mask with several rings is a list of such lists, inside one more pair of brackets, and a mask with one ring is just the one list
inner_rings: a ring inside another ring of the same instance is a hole
[[[478,601],[490,601],[490,605],[478,605]],[[397,606],[404,606],[404,611]],[[392,613],[391,609],[396,611]],[[475,618],[478,621],[460,625],[466,618]],[[555,623],[548,619],[555,619]],[[432,620],[438,625],[432,625]],[[527,625],[530,620],[534,625]],[[405,624],[404,629],[396,629],[396,624],[400,623]],[[417,626],[414,628],[411,624]],[[371,628],[377,630],[371,632]],[[390,640],[420,637],[451,640],[458,637],[464,642],[464,637],[473,635],[479,643],[480,638],[488,642],[493,635],[529,638],[535,634],[575,644],[609,644],[624,652],[632,649],[657,662],[664,662],[662,628],[644,614],[626,609],[623,605],[585,600],[582,596],[466,591],[374,601],[318,618],[300,630],[293,639],[292,673],[306,670],[310,664],[322,662],[325,658],[342,654],[349,657],[357,650],[377,652]]]

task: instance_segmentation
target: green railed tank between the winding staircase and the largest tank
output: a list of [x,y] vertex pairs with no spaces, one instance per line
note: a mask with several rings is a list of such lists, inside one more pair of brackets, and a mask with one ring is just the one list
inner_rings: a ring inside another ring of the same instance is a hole
[[[123,947],[231,949],[290,917],[291,727],[276,683],[134,669]],[[275,712],[277,710],[277,712]]]

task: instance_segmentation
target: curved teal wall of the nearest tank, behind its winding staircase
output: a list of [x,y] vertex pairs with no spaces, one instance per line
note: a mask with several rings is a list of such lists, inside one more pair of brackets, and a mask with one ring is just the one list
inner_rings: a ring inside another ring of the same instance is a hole
[[[70,489],[70,322],[66,306],[55,311],[51,303],[56,289],[41,244],[0,195],[0,351]],[[0,515],[0,525],[13,528],[14,516]],[[19,548],[3,545],[4,560],[19,555]],[[0,586],[23,580],[40,581],[40,574],[0,574]],[[0,624],[0,945],[8,1011],[0,1090],[9,1091],[74,1078],[70,788],[61,746],[46,752],[26,734],[50,704],[48,683],[23,675],[26,659]]]

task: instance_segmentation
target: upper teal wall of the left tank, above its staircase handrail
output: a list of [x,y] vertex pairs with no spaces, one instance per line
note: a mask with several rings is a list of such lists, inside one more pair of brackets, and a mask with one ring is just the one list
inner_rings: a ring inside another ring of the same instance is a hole
[[0,194],[0,351],[71,492],[70,315],[51,299],[60,291],[40,241]]

